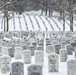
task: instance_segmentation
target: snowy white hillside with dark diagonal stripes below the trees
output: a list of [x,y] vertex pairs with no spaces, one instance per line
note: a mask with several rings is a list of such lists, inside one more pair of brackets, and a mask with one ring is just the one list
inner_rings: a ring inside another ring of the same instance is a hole
[[[76,22],[74,21],[74,31],[76,31]],[[0,18],[0,31],[3,31],[3,18]],[[48,30],[48,31],[62,31],[63,21],[55,17],[48,17],[44,15],[32,15],[23,13],[22,15],[14,14],[9,20],[9,31],[14,30]],[[70,31],[70,22],[66,20],[65,31]]]

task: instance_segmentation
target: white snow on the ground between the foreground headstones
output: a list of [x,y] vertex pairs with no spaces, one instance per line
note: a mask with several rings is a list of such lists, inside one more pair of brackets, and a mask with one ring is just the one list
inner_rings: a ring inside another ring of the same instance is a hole
[[[75,59],[74,57],[74,52],[73,55],[68,55],[68,60],[71,59]],[[68,61],[67,60],[67,61]],[[12,63],[16,62],[16,61],[20,61],[23,62],[23,59],[20,60],[15,60],[14,58],[12,58]],[[35,64],[35,57],[32,56],[32,63],[31,64]],[[27,68],[30,64],[24,64],[24,75],[28,75],[28,71]],[[10,75],[10,74],[1,74],[0,75]],[[44,67],[43,67],[43,75],[67,75],[67,62],[60,62],[60,55],[59,55],[59,72],[54,72],[54,73],[49,73],[48,72],[48,54],[46,53],[46,42],[44,39]]]

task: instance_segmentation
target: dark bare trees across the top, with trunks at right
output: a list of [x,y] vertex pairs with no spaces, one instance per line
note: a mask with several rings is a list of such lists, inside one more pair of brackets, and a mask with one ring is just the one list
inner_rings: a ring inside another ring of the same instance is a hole
[[41,14],[53,11],[59,12],[59,19],[63,20],[63,31],[65,31],[65,21],[70,21],[70,31],[73,31],[74,14],[76,14],[76,0],[0,0],[0,10],[8,18],[8,11],[22,14],[25,11],[41,10]]

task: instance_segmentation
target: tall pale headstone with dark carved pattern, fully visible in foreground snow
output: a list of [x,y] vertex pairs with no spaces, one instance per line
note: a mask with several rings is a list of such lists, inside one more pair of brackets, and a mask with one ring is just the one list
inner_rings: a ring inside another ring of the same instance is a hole
[[48,68],[49,72],[58,72],[59,71],[59,58],[58,54],[50,53],[48,55]]

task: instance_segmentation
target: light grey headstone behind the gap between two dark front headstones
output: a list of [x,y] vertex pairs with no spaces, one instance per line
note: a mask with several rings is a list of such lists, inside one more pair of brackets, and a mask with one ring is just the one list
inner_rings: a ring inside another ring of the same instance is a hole
[[23,51],[23,60],[25,64],[31,63],[31,51],[30,50]]

